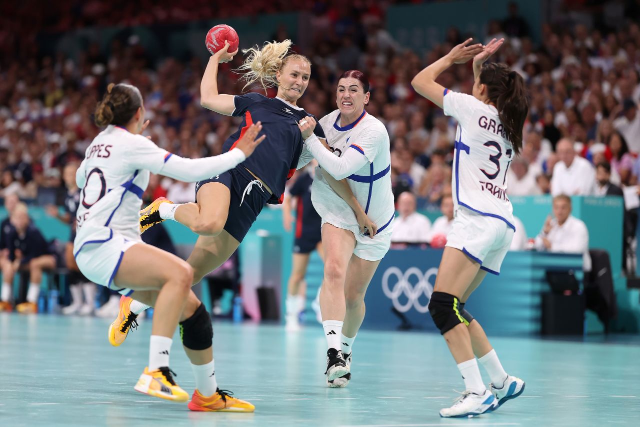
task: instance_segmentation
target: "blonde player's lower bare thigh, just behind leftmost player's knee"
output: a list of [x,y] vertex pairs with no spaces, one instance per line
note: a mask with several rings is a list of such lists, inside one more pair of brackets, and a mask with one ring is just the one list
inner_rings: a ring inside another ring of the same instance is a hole
[[187,258],[193,267],[194,283],[224,264],[240,245],[232,235],[222,230],[217,236],[198,236],[196,244]]

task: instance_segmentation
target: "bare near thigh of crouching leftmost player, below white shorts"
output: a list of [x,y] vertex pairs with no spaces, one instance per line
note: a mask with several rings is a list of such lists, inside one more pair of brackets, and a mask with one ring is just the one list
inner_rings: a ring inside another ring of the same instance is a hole
[[165,283],[188,281],[193,270],[177,256],[148,244],[134,244],[122,255],[113,282],[116,287],[133,290],[161,289]]

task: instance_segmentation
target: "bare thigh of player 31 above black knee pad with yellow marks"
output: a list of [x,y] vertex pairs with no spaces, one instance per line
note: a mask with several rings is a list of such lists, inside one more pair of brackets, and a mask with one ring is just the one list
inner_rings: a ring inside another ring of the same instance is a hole
[[434,292],[445,292],[459,299],[476,278],[480,264],[465,255],[460,249],[445,247],[442,253]]

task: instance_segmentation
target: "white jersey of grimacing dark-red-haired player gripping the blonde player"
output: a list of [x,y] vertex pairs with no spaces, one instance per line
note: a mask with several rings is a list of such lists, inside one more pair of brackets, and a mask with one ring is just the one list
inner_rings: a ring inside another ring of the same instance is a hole
[[[391,233],[395,208],[391,190],[391,155],[389,135],[384,124],[363,112],[352,124],[339,126],[340,110],[320,119],[326,141],[333,154],[342,156],[347,150],[356,150],[367,158],[367,163],[355,174],[347,177],[349,187],[364,208],[371,221],[378,226],[381,235]],[[311,187],[314,208],[323,218],[339,228],[359,234],[358,221],[349,205],[324,179],[323,169],[316,168],[316,178]]]

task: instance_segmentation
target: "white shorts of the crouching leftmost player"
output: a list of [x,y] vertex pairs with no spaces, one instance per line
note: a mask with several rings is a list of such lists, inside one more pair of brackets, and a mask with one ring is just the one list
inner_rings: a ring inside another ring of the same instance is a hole
[[95,228],[90,232],[83,230],[79,237],[81,239],[76,237],[74,242],[74,257],[82,274],[93,283],[106,286],[125,296],[131,295],[132,289],[115,289],[113,278],[118,272],[125,251],[143,242],[129,240],[108,227]]

